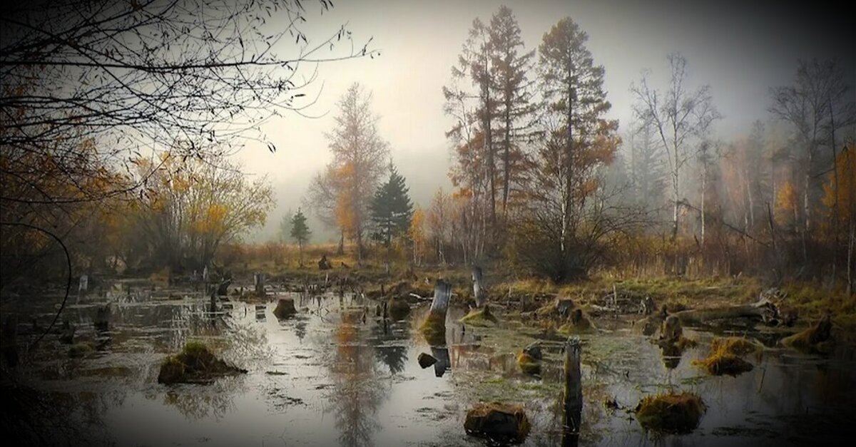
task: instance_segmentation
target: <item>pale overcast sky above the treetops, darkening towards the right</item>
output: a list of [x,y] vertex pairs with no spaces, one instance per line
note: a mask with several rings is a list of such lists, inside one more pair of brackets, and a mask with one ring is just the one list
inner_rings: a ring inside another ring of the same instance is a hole
[[[392,158],[407,178],[413,199],[427,204],[439,187],[449,187],[449,144],[444,132],[441,88],[449,82],[473,19],[490,21],[501,4],[514,11],[526,49],[562,17],[570,16],[589,35],[595,63],[606,69],[610,115],[623,125],[633,98],[628,89],[643,69],[663,80],[666,55],[687,57],[693,85],[710,84],[724,119],[723,138],[749,132],[752,121],[768,118],[770,86],[794,79],[797,60],[837,57],[856,80],[852,29],[841,7],[817,2],[693,2],[678,0],[597,1],[351,1],[336,0],[323,16],[308,15],[310,39],[322,39],[348,22],[354,40],[373,37],[380,57],[322,65],[318,102],[308,119],[291,115],[268,122],[265,133],[278,150],[249,145],[240,154],[247,171],[267,174],[276,187],[278,208],[268,230],[288,207],[296,208],[311,176],[330,161],[324,132],[330,130],[336,99],[353,82],[373,93],[378,127],[389,141]],[[312,9],[310,9],[312,12]],[[312,42],[310,42],[312,43]],[[853,82],[856,84],[856,82]],[[326,113],[326,115],[324,115]],[[320,235],[320,231],[317,233]],[[321,239],[324,239],[322,237]]]

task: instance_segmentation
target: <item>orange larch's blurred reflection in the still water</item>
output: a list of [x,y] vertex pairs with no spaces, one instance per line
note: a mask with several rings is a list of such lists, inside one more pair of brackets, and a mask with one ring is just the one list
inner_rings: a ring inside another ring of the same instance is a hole
[[342,313],[330,363],[333,387],[326,399],[336,416],[341,445],[373,444],[372,436],[380,428],[377,409],[389,393],[389,387],[378,383],[374,348],[360,331],[360,318],[361,314]]

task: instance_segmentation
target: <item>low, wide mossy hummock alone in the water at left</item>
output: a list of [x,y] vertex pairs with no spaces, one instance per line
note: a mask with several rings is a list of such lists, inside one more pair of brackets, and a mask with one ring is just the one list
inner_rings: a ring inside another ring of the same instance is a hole
[[187,342],[181,353],[163,359],[158,383],[207,383],[217,377],[239,373],[247,373],[247,370],[218,359],[203,343]]

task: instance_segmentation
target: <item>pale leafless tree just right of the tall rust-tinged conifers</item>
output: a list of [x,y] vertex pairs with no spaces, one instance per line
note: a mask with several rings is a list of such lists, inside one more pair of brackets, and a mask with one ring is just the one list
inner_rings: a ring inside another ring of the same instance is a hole
[[678,217],[681,204],[681,172],[692,159],[695,141],[710,131],[711,124],[722,116],[713,105],[710,86],[690,90],[687,83],[687,59],[671,54],[669,60],[669,89],[660,92],[649,84],[648,73],[642,75],[639,85],[633,84],[636,96],[634,113],[643,120],[651,120],[669,161],[672,186],[672,237],[678,234]]

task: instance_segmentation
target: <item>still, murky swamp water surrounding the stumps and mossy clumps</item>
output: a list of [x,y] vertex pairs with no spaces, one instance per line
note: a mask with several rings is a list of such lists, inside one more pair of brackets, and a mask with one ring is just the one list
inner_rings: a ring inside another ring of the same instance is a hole
[[[283,321],[273,316],[275,302],[233,301],[211,313],[206,300],[181,295],[108,296],[67,307],[75,343],[95,350],[71,359],[68,345],[48,335],[25,355],[21,375],[43,391],[44,414],[33,426],[49,444],[484,445],[467,437],[463,420],[473,402],[493,400],[525,406],[532,421],[525,445],[817,444],[842,442],[853,422],[853,347],[824,357],[765,349],[748,358],[751,372],[710,377],[691,364],[707,355],[710,333],[688,331],[698,348],[663,358],[626,325],[603,321],[600,327],[615,329],[581,337],[585,406],[574,440],[562,434],[561,339],[537,325],[502,319],[500,309],[500,327],[465,330],[457,323],[463,309],[453,308],[448,347],[437,349],[416,330],[426,303],[407,319],[384,321],[375,316],[376,301],[288,296],[300,312]],[[97,331],[93,319],[108,301],[109,329]],[[4,303],[3,312],[50,323],[53,305],[31,302]],[[514,361],[533,337],[544,339],[542,377],[521,374]],[[191,339],[248,373],[213,384],[158,384],[160,361]],[[421,352],[440,362],[420,368]],[[629,410],[665,390],[702,396],[707,411],[695,431],[663,435],[639,426]],[[608,398],[619,408],[606,408]]]

